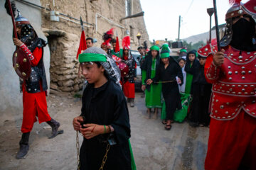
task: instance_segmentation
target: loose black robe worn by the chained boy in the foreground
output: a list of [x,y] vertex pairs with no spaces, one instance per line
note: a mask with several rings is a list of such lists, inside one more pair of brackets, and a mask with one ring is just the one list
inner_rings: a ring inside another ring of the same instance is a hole
[[[111,125],[117,145],[112,145],[107,154],[104,169],[131,169],[129,152],[129,113],[127,103],[117,84],[111,79],[103,86],[94,88],[88,84],[82,95],[82,113],[85,123]],[[80,149],[80,169],[100,169],[110,134],[85,139]]]

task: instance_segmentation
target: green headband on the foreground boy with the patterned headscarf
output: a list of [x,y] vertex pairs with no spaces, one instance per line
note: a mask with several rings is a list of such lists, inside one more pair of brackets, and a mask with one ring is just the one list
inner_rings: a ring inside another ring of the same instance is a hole
[[79,62],[107,62],[107,57],[102,54],[82,53],[78,60]]

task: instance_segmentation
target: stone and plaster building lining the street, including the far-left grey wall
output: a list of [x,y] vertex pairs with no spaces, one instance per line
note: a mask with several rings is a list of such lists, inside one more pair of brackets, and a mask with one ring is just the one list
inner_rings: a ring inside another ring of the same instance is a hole
[[[11,55],[15,47],[11,40],[11,17],[6,14],[4,0],[0,0],[0,111],[22,108],[19,94],[18,76],[12,68]],[[142,12],[139,0],[15,0],[17,8],[31,21],[39,37],[48,41],[44,49],[44,62],[51,93],[79,91],[83,79],[78,78],[76,53],[81,35],[80,17],[84,21],[86,37],[96,38],[95,46],[100,47],[102,35],[115,28],[119,45],[122,38],[131,37],[132,50],[137,50],[137,33],[142,35],[140,42],[148,42],[149,35],[143,16],[121,20],[126,16]],[[52,17],[50,17],[50,15]],[[6,29],[8,28],[8,29]],[[7,46],[7,47],[6,47]],[[10,79],[11,77],[11,79]],[[10,88],[11,87],[11,88]],[[49,91],[48,91],[49,92]]]

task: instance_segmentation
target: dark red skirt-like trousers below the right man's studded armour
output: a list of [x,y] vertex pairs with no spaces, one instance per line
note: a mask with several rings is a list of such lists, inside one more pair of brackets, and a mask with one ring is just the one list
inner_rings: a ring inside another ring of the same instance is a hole
[[233,120],[210,120],[205,169],[256,169],[256,118],[241,111]]

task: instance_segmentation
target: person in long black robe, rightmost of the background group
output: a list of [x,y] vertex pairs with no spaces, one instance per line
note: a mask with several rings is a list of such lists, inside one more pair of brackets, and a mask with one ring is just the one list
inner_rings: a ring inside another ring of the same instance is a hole
[[191,94],[193,96],[191,110],[189,113],[189,125],[193,127],[208,126],[210,124],[210,113],[208,111],[211,84],[208,84],[204,76],[204,65],[206,57],[198,56],[200,65],[194,68]]

